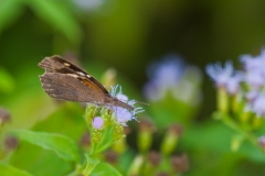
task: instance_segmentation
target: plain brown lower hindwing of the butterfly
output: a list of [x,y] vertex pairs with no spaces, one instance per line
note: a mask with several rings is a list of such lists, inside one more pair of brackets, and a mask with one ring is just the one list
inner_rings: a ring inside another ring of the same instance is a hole
[[104,103],[104,94],[95,90],[94,85],[80,80],[73,76],[59,73],[45,73],[40,76],[45,92],[56,99]]

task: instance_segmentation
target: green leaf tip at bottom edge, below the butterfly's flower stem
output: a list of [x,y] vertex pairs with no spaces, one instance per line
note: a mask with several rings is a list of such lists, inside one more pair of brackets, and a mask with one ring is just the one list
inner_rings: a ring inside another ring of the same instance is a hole
[[112,176],[121,176],[121,174],[114,168],[112,165],[107,163],[99,163],[92,172],[91,176],[103,176],[103,175],[112,175]]

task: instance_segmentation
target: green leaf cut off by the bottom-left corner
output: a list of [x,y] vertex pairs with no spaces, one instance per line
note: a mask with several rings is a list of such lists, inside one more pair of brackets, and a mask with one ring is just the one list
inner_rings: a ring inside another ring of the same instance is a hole
[[3,164],[0,164],[0,174],[1,174],[1,176],[12,176],[12,175],[15,175],[15,176],[32,176],[31,174],[29,174],[24,170],[21,170],[19,168],[15,168],[15,167],[12,167],[12,166],[9,166],[9,165],[3,165]]

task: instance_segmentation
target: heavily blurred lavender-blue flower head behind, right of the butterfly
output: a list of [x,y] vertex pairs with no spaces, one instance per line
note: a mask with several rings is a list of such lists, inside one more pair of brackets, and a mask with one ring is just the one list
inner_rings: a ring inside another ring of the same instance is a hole
[[[198,70],[195,67],[187,67],[178,55],[167,55],[161,62],[153,63],[148,67],[149,81],[144,87],[144,95],[151,101],[158,101],[170,91],[177,100],[187,102],[193,99],[192,101],[194,101],[194,97],[191,98],[191,95],[194,95],[197,84],[200,84],[201,80],[201,74]],[[197,74],[193,75],[193,73]],[[190,77],[192,80],[189,80]],[[184,91],[180,95],[179,92],[182,90]]]

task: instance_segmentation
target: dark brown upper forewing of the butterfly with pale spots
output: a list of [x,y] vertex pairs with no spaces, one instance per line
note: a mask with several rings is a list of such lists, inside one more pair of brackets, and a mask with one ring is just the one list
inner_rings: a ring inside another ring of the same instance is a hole
[[46,73],[59,73],[78,76],[83,80],[86,79],[87,81],[89,81],[89,85],[91,86],[93,85],[93,88],[96,88],[103,94],[108,95],[108,91],[105,89],[105,87],[99,81],[97,81],[92,75],[87,74],[85,70],[81,69],[80,67],[63,59],[57,55],[45,57],[41,63],[39,63],[39,66],[44,68]]

